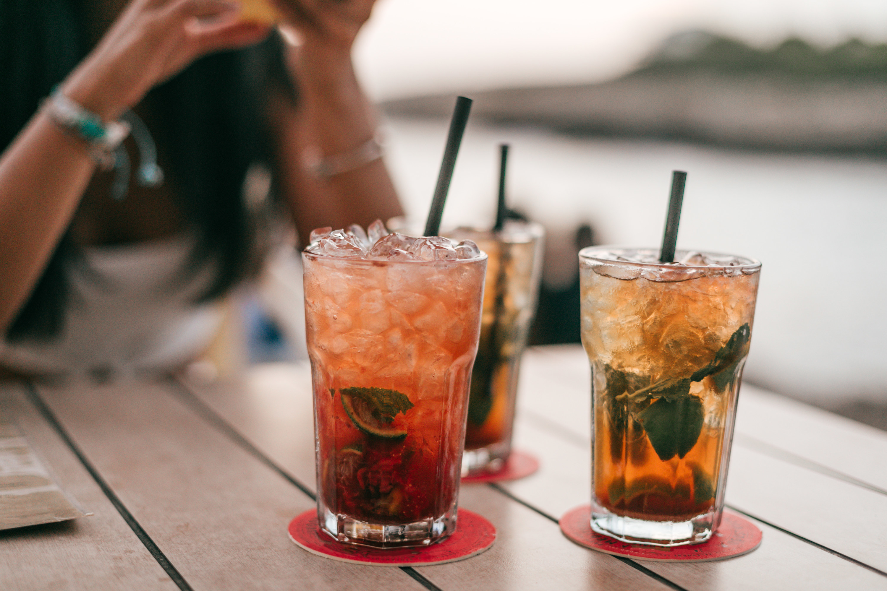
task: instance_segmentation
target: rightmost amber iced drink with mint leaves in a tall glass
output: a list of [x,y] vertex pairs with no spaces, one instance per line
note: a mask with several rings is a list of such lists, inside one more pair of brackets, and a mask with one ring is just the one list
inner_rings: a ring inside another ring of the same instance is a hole
[[707,540],[724,505],[760,263],[654,249],[579,253],[592,366],[592,528],[619,540]]

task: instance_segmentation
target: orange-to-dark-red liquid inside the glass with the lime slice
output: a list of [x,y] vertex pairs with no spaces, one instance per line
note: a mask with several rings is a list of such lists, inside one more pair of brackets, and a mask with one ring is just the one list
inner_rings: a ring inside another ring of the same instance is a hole
[[[440,517],[455,506],[485,261],[399,263],[305,255],[318,495],[376,524]],[[404,394],[412,408],[362,430],[343,388]]]

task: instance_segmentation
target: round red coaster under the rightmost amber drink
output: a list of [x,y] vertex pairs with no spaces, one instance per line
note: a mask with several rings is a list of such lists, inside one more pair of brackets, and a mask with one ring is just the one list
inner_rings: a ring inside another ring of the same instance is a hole
[[580,546],[616,556],[663,563],[702,563],[748,554],[761,544],[761,530],[749,519],[724,510],[721,525],[709,540],[674,548],[629,544],[592,531],[591,505],[570,509],[561,517],[561,532]]

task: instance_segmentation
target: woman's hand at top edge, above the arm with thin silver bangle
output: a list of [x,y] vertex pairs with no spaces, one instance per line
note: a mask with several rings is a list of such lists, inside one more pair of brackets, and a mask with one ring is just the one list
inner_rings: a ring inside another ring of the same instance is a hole
[[350,51],[375,0],[273,0],[306,45]]

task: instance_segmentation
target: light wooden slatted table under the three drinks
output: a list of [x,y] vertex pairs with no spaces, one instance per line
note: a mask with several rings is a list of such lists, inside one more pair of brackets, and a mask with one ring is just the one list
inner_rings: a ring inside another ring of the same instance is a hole
[[726,499],[760,548],[664,564],[573,544],[557,519],[589,500],[588,390],[580,347],[528,352],[515,442],[541,469],[462,487],[460,506],[498,529],[489,551],[397,569],[287,538],[314,505],[307,366],[204,387],[3,385],[0,417],[94,515],[0,533],[0,589],[887,589],[887,434],[748,385]]

